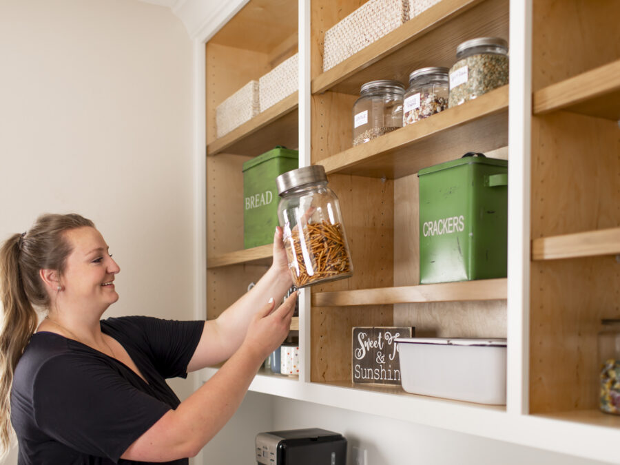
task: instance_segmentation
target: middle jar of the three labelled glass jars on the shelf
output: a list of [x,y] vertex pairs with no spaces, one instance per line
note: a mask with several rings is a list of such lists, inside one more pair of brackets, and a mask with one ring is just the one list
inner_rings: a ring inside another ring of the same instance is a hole
[[402,125],[410,125],[448,108],[448,68],[432,67],[409,74],[402,103]]

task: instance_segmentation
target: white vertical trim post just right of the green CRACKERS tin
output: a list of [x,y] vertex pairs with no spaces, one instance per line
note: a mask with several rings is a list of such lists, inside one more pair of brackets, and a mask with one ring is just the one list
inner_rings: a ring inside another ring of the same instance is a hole
[[532,0],[510,2],[508,101],[508,413],[528,413]]

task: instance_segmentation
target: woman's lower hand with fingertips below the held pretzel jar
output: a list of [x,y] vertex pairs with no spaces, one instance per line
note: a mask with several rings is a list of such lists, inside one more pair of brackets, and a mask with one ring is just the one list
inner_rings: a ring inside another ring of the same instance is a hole
[[243,345],[258,351],[261,359],[278,349],[291,329],[297,295],[298,291],[291,293],[276,310],[273,300],[267,302],[252,318]]

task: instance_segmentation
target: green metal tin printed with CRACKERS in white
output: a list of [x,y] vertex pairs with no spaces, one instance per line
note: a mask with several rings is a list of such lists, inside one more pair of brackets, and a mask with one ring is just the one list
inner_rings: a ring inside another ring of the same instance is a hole
[[504,278],[508,161],[470,152],[420,177],[420,283]]

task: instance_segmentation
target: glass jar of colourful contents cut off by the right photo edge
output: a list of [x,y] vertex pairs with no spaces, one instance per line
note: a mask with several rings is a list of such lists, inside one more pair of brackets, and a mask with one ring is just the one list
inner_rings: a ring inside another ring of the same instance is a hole
[[599,409],[620,415],[620,320],[601,320]]

